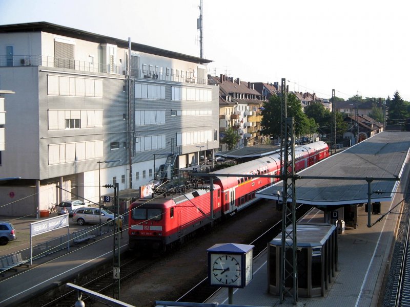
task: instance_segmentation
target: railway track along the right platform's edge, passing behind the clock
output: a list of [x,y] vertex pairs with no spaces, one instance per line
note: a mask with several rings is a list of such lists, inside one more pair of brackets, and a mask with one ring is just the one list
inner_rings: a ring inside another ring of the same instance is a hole
[[[311,206],[301,205],[297,208],[297,219],[302,217],[306,212],[311,209]],[[254,239],[250,242],[250,245],[254,245],[253,248],[253,255],[256,258],[259,254],[261,254],[265,249],[267,249],[267,245],[274,238],[277,234],[279,234],[282,230],[282,220],[277,222],[274,226],[270,229],[265,231],[259,237]],[[193,303],[203,303],[207,301],[214,293],[219,291],[220,287],[211,286],[209,284],[208,277],[203,278],[199,281],[191,290],[189,290],[186,294],[182,295],[178,298],[177,302],[193,302]]]

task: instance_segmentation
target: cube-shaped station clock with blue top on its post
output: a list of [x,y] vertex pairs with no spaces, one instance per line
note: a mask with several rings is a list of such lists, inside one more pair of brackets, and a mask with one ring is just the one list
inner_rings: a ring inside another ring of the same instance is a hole
[[244,288],[252,280],[253,245],[224,243],[207,249],[211,286],[228,288],[233,304],[233,288]]

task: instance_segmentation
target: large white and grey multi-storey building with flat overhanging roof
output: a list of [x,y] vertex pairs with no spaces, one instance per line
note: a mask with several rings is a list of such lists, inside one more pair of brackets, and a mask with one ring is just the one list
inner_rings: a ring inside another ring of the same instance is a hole
[[15,92],[0,172],[22,178],[0,187],[19,200],[0,214],[98,203],[99,184],[137,189],[159,168],[171,178],[213,155],[219,107],[209,62],[50,23],[0,26],[0,88]]

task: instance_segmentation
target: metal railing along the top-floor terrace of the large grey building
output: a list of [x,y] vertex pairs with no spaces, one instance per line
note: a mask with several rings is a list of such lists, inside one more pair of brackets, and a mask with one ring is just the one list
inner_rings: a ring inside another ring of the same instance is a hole
[[[94,63],[66,58],[57,58],[45,55],[13,55],[0,56],[0,67],[22,67],[22,66],[43,66],[52,68],[72,69],[81,72],[109,73],[117,75],[128,75],[124,66],[104,63]],[[208,79],[201,79],[190,75],[176,75],[171,73],[160,73],[131,69],[132,78],[149,78],[161,81],[173,81],[180,83],[208,84]]]

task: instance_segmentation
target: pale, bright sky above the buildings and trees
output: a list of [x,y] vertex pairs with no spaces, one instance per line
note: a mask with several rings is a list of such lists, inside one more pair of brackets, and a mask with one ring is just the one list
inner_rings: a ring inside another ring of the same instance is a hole
[[[199,57],[200,0],[0,0],[0,25],[47,21]],[[203,0],[208,73],[290,91],[410,101],[404,0]]]

